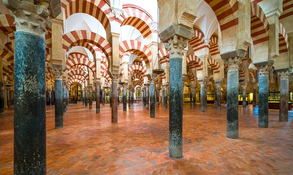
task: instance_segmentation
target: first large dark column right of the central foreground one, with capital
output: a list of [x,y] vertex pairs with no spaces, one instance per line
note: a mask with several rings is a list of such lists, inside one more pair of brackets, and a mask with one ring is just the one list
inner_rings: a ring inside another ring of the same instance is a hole
[[227,104],[227,137],[239,138],[238,131],[238,92],[241,58],[234,57],[225,60],[228,65],[228,104]]

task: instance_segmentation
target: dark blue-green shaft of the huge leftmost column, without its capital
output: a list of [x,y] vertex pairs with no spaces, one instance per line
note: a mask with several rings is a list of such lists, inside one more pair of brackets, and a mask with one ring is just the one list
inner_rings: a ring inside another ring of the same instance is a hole
[[45,175],[45,39],[19,31],[14,36],[14,175]]

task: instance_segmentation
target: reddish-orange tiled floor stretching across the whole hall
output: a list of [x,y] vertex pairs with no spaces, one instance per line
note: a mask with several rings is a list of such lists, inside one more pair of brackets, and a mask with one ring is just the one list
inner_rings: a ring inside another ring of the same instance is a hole
[[[95,106],[95,105],[93,105]],[[289,122],[270,110],[268,129],[258,128],[257,109],[239,107],[239,135],[226,138],[226,108],[208,111],[184,104],[184,157],[168,157],[168,109],[156,105],[156,118],[141,104],[111,123],[109,105],[101,113],[70,105],[64,128],[54,129],[47,108],[48,175],[292,175],[293,112]],[[13,109],[0,115],[0,174],[13,173]]]

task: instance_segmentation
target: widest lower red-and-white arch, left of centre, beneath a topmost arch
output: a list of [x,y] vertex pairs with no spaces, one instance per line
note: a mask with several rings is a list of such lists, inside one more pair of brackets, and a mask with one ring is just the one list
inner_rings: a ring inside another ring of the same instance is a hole
[[108,61],[112,57],[112,46],[108,41],[94,32],[86,30],[75,30],[63,35],[63,49],[68,51],[71,47],[76,45],[83,45],[84,43],[94,44],[98,46],[105,54]]

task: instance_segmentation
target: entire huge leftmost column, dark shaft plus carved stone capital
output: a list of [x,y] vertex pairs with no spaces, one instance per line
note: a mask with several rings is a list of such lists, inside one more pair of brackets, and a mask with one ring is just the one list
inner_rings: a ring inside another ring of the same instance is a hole
[[[45,175],[45,28],[50,22],[49,3],[42,0],[36,5],[32,0],[5,0],[4,4],[12,10],[16,26],[13,173]],[[1,95],[4,97],[2,92]]]

